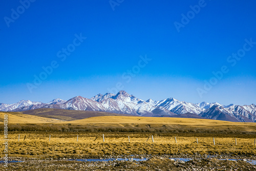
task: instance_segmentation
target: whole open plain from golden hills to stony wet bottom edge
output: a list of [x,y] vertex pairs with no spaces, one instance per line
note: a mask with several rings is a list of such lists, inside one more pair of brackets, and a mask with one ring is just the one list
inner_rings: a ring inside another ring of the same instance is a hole
[[4,114],[9,117],[9,159],[23,161],[9,162],[10,170],[256,169],[247,162],[256,156],[256,123],[132,116],[62,121]]

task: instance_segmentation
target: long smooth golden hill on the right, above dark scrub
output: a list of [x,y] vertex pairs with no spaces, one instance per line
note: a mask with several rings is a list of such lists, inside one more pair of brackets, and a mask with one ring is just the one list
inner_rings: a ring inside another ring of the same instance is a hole
[[141,124],[153,124],[153,125],[179,125],[186,126],[187,128],[204,128],[204,129],[227,129],[240,130],[247,132],[256,132],[256,123],[248,122],[228,122],[220,120],[210,119],[191,119],[191,118],[160,118],[160,117],[132,117],[132,116],[101,116],[91,117],[76,121],[69,121],[64,123],[93,123],[97,125],[141,125]]

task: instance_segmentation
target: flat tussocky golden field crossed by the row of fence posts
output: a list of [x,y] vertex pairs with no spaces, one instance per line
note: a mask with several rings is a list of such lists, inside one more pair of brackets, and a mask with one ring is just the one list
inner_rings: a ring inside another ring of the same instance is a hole
[[[102,134],[104,134],[104,142]],[[19,142],[18,135],[20,135]],[[50,141],[49,135],[51,135]],[[151,138],[152,135],[154,142]],[[130,137],[130,142],[128,136]],[[35,157],[42,159],[82,158],[102,155],[193,155],[195,153],[255,156],[255,137],[255,135],[244,134],[223,136],[220,134],[199,133],[10,132],[8,144],[10,157]],[[216,145],[213,143],[213,138],[215,138]],[[237,145],[235,138],[237,138]],[[1,140],[1,143],[4,143],[4,141]],[[2,146],[1,148],[4,147]],[[3,155],[2,150],[1,156]]]

